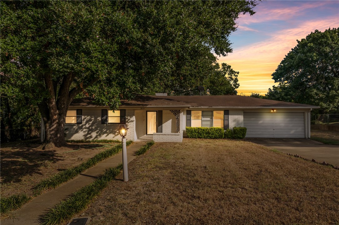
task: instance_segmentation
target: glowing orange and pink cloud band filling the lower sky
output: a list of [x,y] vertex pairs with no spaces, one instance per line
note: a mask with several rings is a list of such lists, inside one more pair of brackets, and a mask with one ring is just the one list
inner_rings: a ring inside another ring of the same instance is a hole
[[234,49],[226,57],[219,57],[219,64],[226,62],[235,71],[239,71],[240,87],[238,93],[250,95],[251,92],[266,94],[274,85],[272,73],[281,60],[307,34],[318,29],[324,31],[329,27],[338,27],[338,18],[305,21],[299,26],[273,33],[268,39]]

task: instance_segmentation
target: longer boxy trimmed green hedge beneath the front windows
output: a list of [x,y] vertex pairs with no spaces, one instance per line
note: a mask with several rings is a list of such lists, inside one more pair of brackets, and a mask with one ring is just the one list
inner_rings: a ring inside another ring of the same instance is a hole
[[221,127],[186,127],[186,134],[188,138],[222,139],[224,129]]

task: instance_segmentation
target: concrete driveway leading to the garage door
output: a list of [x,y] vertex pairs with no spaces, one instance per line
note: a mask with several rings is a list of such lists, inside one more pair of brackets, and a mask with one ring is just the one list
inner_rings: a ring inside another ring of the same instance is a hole
[[333,166],[339,166],[339,145],[325,145],[311,139],[271,139],[246,138],[246,141],[276,149],[285,153],[298,154],[303,158],[325,161]]

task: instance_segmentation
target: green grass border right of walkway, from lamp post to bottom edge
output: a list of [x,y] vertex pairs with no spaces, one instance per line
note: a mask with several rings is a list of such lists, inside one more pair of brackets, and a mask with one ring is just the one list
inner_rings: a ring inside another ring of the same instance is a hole
[[74,215],[84,210],[92,199],[99,195],[100,192],[111,182],[122,170],[122,164],[116,168],[109,168],[104,175],[96,179],[93,183],[84,186],[72,196],[61,201],[55,208],[50,209],[42,218],[41,224],[54,225],[65,224]]

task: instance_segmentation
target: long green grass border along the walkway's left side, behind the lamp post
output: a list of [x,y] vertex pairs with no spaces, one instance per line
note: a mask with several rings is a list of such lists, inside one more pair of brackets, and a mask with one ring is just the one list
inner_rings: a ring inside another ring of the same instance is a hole
[[[126,146],[132,144],[132,141],[127,141],[126,142]],[[117,154],[118,152],[120,152],[122,150],[122,145],[116,145],[113,148],[107,149],[105,151],[102,151],[98,154],[96,154],[94,157],[88,159],[86,162],[83,162],[82,164],[71,168],[71,169],[67,169],[64,171],[61,171],[49,178],[43,179],[41,180],[34,188],[34,194],[40,195],[42,191],[44,190],[49,190],[49,189],[54,189],[56,187],[58,187],[60,184],[67,182],[68,180],[73,179],[74,177],[76,177],[77,175],[79,175],[80,173],[82,173],[83,171],[95,166],[97,163],[99,163],[100,161],[109,158],[115,154]]]

